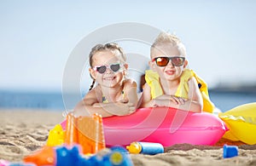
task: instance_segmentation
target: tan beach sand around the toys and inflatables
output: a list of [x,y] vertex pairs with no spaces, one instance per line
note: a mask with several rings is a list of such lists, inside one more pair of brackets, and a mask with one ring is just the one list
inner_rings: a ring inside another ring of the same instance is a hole
[[[63,120],[61,112],[40,110],[0,110],[0,159],[21,162],[45,145],[49,129]],[[237,157],[223,158],[223,145],[239,147]],[[131,154],[134,165],[256,165],[256,146],[219,140],[215,146],[180,144],[154,156]]]

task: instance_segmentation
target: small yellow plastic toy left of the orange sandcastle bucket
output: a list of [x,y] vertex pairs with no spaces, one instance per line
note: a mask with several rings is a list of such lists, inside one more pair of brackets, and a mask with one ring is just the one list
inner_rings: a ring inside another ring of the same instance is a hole
[[47,146],[61,146],[65,140],[65,131],[62,129],[61,124],[56,124],[54,129],[49,130],[49,137]]

